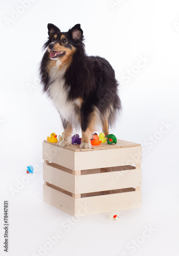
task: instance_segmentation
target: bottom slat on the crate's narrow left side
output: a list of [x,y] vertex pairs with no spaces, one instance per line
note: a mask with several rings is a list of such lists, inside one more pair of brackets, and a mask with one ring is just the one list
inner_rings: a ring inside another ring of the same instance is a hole
[[74,216],[74,199],[52,187],[43,185],[43,201]]

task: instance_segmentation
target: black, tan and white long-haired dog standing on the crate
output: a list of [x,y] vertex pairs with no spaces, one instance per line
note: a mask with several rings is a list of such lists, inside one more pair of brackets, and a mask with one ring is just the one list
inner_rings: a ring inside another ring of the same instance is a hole
[[[105,58],[86,54],[80,24],[68,32],[61,32],[53,24],[47,28],[40,78],[43,92],[53,100],[62,120],[64,137],[60,146],[69,146],[73,128],[81,126],[80,147],[91,148],[96,127],[101,125],[108,135],[109,125],[114,124],[121,110],[115,72]],[[99,44],[99,38],[94,40]],[[113,44],[107,49],[110,47]]]

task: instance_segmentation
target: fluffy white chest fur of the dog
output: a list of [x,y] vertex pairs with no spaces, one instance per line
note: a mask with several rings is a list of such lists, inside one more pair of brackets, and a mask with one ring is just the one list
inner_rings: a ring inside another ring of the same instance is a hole
[[57,60],[56,66],[50,69],[50,86],[48,89],[48,93],[50,98],[54,101],[54,104],[59,111],[61,117],[70,123],[73,126],[78,126],[78,120],[75,113],[75,106],[78,104],[76,100],[68,100],[68,93],[70,88],[64,87],[65,79],[64,76],[64,69],[59,71],[59,66],[61,65],[61,61]]

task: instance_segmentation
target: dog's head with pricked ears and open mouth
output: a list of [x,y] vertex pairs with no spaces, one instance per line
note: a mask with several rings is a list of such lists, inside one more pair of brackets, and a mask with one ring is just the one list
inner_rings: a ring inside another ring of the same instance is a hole
[[48,40],[43,48],[47,47],[50,59],[66,62],[80,46],[84,47],[83,30],[80,24],[76,24],[68,32],[61,32],[58,27],[50,23],[47,28]]

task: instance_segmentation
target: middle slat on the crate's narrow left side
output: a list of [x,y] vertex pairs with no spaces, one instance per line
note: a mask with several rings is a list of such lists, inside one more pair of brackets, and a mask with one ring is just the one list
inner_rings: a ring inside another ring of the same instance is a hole
[[43,164],[43,180],[74,193],[74,175],[61,169]]

